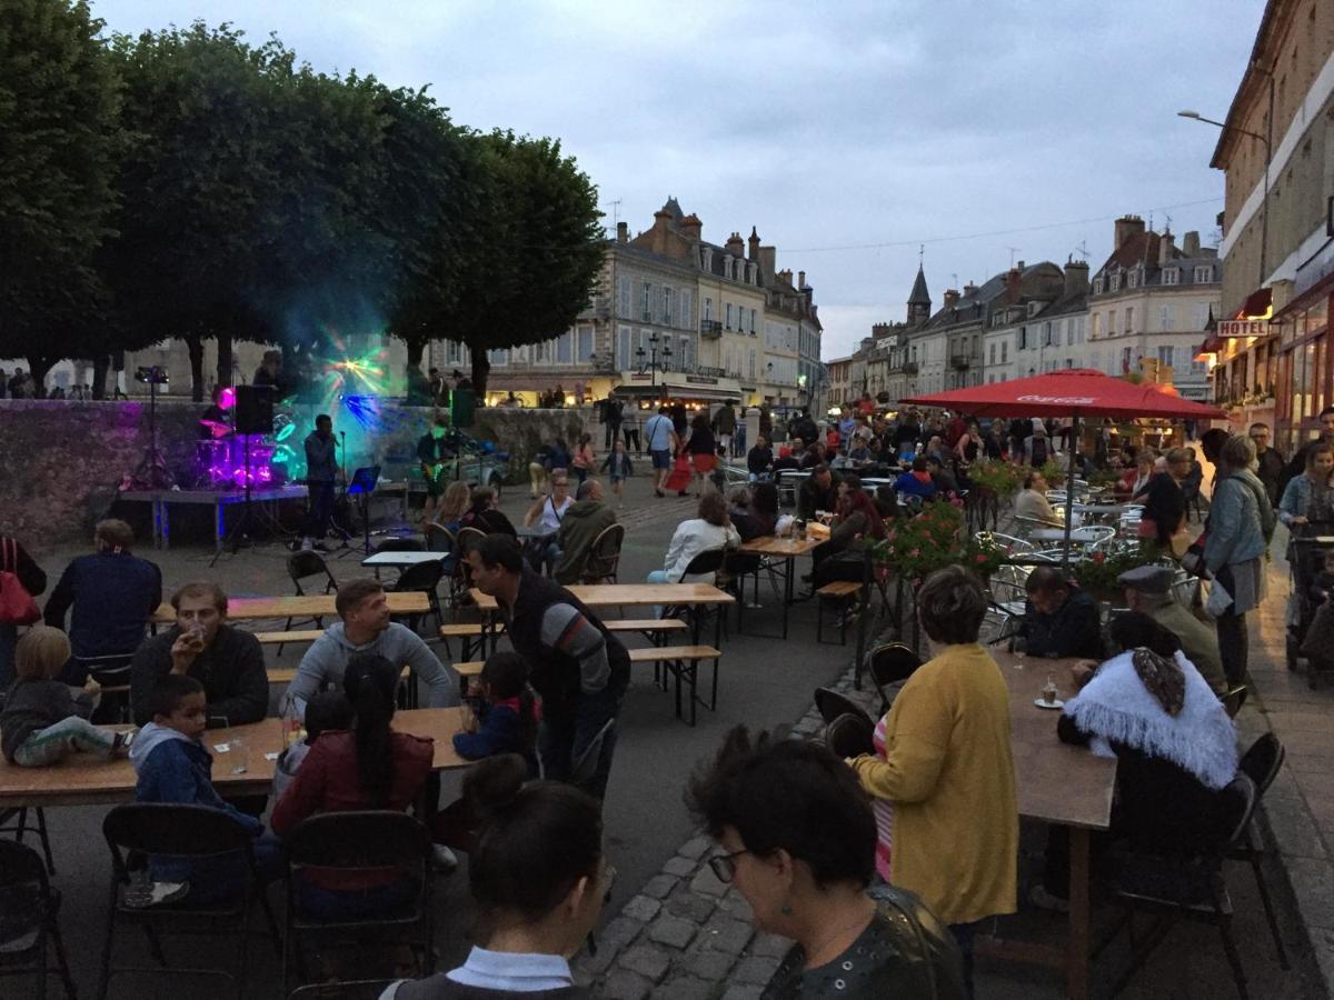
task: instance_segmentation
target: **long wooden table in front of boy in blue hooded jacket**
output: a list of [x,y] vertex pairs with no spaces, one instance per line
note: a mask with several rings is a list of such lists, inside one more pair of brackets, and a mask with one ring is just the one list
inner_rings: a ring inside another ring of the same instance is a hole
[[[435,740],[432,768],[467,767],[454,752],[452,736],[467,725],[467,708],[415,708],[396,712],[394,728]],[[127,728],[127,727],[115,727]],[[249,761],[244,775],[231,773],[227,752],[215,748],[229,740],[245,741]],[[249,725],[204,732],[204,745],[213,755],[213,784],[223,795],[264,795],[273,785],[276,761],[265,753],[283,749],[283,720],[264,719]],[[91,753],[71,753],[59,764],[21,768],[0,759],[0,808],[45,805],[112,805],[135,797],[135,769],[128,759],[101,760]]]

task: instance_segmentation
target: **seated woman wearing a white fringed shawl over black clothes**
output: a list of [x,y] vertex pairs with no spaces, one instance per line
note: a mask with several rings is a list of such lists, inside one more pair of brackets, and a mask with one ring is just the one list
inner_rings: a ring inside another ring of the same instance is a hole
[[[1198,843],[1237,775],[1237,729],[1173,632],[1138,612],[1119,615],[1110,631],[1123,652],[1085,668],[1057,733],[1117,757],[1110,839],[1146,851]],[[1095,839],[1095,853],[1107,840]],[[1053,827],[1043,884],[1030,893],[1035,904],[1062,908],[1069,857],[1066,829]]]

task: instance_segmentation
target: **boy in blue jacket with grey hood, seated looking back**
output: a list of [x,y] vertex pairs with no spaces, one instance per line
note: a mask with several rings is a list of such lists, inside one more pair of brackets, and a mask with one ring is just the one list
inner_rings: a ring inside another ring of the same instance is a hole
[[[135,800],[140,803],[176,803],[221,809],[256,837],[255,864],[263,875],[280,868],[280,848],[273,837],[261,836],[264,824],[224,801],[213,787],[213,757],[200,741],[208,720],[204,685],[183,673],[161,677],[148,699],[153,720],[135,736],[129,763],[139,781]],[[153,856],[148,868],[153,880],[172,885],[172,891],[155,891],[155,903],[188,896],[189,903],[205,904],[239,895],[244,885],[244,859],[220,856],[193,860]]]

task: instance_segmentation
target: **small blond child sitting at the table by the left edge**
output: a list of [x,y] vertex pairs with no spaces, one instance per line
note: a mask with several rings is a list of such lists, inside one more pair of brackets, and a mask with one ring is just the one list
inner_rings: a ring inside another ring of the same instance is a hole
[[55,680],[68,661],[69,639],[59,628],[37,625],[19,640],[17,677],[0,712],[4,757],[11,764],[48,767],[79,751],[111,757],[128,745],[127,733],[88,721],[101,691],[97,681],[88,677],[79,691]]

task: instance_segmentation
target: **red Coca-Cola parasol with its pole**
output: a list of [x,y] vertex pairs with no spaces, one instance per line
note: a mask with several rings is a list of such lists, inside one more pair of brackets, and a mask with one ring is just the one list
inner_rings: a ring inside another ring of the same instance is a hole
[[[927,396],[899,400],[923,407],[942,407],[971,416],[1069,416],[1071,441],[1079,433],[1079,417],[1171,417],[1214,420],[1227,415],[1163,392],[1154,383],[1127,381],[1091,368],[1066,368],[1027,379],[974,385]],[[1075,496],[1075,449],[1070,448],[1070,476],[1066,487],[1066,560],[1070,559],[1070,509]]]

